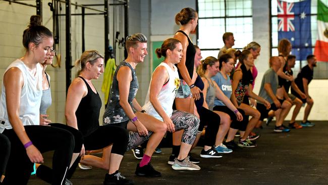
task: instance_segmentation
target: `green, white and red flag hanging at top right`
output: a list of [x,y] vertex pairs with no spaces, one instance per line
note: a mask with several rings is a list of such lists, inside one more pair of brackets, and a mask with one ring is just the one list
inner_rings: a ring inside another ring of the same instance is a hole
[[314,55],[318,61],[328,62],[328,7],[318,0],[318,35]]

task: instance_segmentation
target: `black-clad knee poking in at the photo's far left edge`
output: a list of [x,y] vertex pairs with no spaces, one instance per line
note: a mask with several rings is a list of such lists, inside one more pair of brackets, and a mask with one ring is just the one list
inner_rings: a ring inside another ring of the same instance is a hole
[[10,141],[8,137],[0,133],[0,178],[4,174],[10,154]]

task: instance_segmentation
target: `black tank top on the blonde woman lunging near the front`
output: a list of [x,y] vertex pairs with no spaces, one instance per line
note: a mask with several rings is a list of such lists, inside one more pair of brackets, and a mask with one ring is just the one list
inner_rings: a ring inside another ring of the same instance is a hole
[[84,78],[79,76],[88,88],[88,94],[82,98],[75,115],[77,126],[82,135],[88,136],[99,127],[99,112],[101,108],[101,99],[98,92],[94,93]]

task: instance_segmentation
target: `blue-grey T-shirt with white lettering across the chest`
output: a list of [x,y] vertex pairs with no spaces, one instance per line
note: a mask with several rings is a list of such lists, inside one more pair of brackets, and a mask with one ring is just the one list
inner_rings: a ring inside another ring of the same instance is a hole
[[[227,75],[227,79],[225,79],[221,72],[216,73],[215,76],[212,77],[212,80],[216,82],[218,87],[222,90],[222,92],[230,99],[232,93],[231,80],[229,75]],[[214,99],[214,106],[226,106],[221,100],[218,100],[216,97]]]

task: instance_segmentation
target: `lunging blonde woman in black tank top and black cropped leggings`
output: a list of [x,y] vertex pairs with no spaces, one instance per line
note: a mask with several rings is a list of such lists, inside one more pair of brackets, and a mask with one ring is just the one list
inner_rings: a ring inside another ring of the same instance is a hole
[[[65,116],[67,125],[81,131],[83,145],[82,159],[78,158],[71,168],[76,168],[81,162],[109,169],[103,184],[133,184],[118,171],[128,146],[128,132],[119,126],[99,126],[101,100],[91,80],[98,79],[103,73],[103,56],[97,51],[85,51],[76,65],[81,66],[81,72],[68,89]],[[102,158],[84,155],[85,151],[99,149],[104,149]]]

